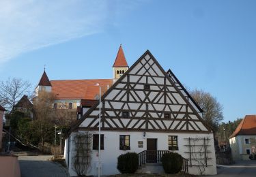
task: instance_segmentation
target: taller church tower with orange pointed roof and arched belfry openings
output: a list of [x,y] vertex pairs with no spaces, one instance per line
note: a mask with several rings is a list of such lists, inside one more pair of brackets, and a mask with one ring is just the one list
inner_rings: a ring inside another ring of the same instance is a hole
[[119,79],[128,69],[129,66],[126,62],[126,57],[124,57],[124,51],[121,44],[113,65],[113,79]]

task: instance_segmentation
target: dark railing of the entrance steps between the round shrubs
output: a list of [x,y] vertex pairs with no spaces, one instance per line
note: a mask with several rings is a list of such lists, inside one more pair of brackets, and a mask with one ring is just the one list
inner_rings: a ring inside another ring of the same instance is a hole
[[[162,155],[169,153],[169,150],[144,150],[139,152],[139,165],[145,163],[162,163]],[[182,171],[188,172],[188,159],[183,158]]]

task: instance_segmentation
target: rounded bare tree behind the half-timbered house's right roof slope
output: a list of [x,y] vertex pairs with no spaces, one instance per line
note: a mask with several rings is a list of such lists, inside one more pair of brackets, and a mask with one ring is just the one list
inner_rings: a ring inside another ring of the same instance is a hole
[[202,90],[193,90],[191,97],[203,109],[203,119],[210,125],[213,131],[216,131],[219,123],[223,120],[223,106],[210,93]]

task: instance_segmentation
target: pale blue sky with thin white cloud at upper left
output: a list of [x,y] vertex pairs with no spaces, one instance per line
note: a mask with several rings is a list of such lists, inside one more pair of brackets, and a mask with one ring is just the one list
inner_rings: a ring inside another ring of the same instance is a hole
[[256,1],[1,1],[0,80],[112,78],[119,44],[149,49],[184,86],[256,114]]

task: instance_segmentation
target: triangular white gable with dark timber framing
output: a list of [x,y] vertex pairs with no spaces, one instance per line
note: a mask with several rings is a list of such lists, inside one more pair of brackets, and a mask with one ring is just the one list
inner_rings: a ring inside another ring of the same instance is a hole
[[[175,82],[147,50],[102,96],[102,130],[210,132]],[[98,129],[99,108],[88,110],[73,130]]]

